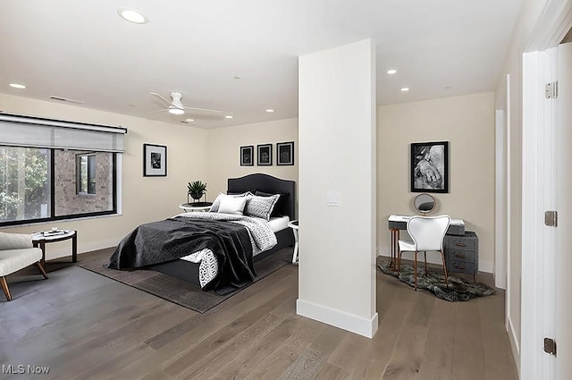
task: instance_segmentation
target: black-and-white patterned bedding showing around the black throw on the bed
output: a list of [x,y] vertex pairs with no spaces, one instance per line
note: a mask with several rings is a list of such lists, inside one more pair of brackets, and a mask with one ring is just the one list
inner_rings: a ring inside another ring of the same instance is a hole
[[[287,225],[290,221],[288,216],[282,216],[280,218],[271,218],[268,222],[265,219],[243,216],[243,215],[231,215],[231,214],[221,214],[221,213],[183,213],[177,216],[185,216],[193,219],[214,219],[229,221],[231,223],[241,224],[246,227],[248,235],[250,237],[250,242],[252,243],[252,255],[256,256],[260,252],[267,249],[273,248],[276,245],[276,235],[274,232],[283,230],[282,226],[284,223]],[[286,222],[284,222],[284,218]],[[274,219],[274,220],[273,220]],[[274,229],[277,230],[274,230]],[[187,255],[181,260],[191,261],[193,263],[199,263],[198,266],[198,281],[201,288],[207,283],[210,283],[218,274],[218,262],[214,253],[210,249],[202,249],[198,252],[193,252]]]

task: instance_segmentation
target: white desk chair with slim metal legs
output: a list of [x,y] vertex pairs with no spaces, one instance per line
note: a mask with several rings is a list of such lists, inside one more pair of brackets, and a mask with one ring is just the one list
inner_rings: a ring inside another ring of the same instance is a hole
[[417,290],[417,252],[425,253],[425,274],[427,273],[427,251],[435,250],[441,252],[443,270],[445,272],[445,283],[449,287],[447,279],[447,266],[445,264],[445,254],[443,253],[443,238],[449,229],[450,216],[411,216],[408,220],[408,232],[413,239],[411,241],[399,241],[400,252],[398,258],[398,274],[401,269],[401,252],[415,252],[415,290]]

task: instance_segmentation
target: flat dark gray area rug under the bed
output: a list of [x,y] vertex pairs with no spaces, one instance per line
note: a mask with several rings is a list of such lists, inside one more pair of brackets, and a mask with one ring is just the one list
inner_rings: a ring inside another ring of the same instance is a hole
[[200,286],[194,283],[187,283],[176,277],[160,272],[139,269],[132,271],[120,271],[106,268],[111,253],[91,258],[78,263],[78,266],[88,269],[91,272],[105,275],[119,283],[132,286],[133,288],[153,294],[164,300],[171,301],[185,308],[204,313],[210,308],[214,308],[223,300],[228,300],[231,296],[241,290],[246,289],[252,283],[264,278],[275,270],[291,263],[291,249],[282,249],[279,252],[257,261],[254,266],[257,277],[252,283],[243,288],[228,294],[219,295],[214,291],[203,291]]

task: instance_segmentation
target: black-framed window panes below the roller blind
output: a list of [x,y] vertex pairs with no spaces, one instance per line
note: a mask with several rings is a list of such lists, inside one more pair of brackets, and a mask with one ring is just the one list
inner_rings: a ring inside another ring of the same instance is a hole
[[115,154],[0,146],[0,225],[116,212]]

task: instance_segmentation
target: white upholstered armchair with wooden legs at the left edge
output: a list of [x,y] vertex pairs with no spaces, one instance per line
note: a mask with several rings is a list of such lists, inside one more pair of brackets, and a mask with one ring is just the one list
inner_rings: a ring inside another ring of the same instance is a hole
[[42,251],[32,246],[31,235],[0,232],[0,285],[7,300],[12,300],[8,283],[6,283],[8,274],[35,264],[44,278],[47,278],[46,271],[40,264],[41,259]]

